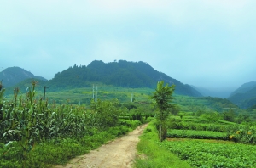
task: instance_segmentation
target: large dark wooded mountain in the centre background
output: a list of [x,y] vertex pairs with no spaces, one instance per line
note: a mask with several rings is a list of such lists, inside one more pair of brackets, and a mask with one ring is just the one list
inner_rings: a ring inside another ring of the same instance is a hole
[[119,60],[118,62],[104,63],[95,60],[88,66],[75,64],[67,70],[58,72],[52,80],[46,83],[52,89],[87,87],[91,82],[101,82],[117,87],[155,88],[157,81],[162,80],[170,85],[175,84],[175,92],[177,94],[201,97],[201,93],[197,92],[193,87],[154,70],[149,64],[141,61],[128,62]]

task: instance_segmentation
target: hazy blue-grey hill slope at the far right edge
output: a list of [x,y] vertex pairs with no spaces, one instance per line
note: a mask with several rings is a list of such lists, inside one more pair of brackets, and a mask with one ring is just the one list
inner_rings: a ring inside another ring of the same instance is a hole
[[251,81],[241,85],[228,98],[232,103],[240,108],[247,109],[256,104],[256,81]]

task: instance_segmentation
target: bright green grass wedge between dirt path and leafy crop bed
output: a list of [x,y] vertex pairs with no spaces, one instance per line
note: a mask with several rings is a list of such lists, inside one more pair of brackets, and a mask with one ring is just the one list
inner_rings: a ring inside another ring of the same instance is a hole
[[149,123],[140,139],[137,144],[138,156],[135,163],[137,168],[190,167],[188,163],[180,160],[161,145],[154,121]]

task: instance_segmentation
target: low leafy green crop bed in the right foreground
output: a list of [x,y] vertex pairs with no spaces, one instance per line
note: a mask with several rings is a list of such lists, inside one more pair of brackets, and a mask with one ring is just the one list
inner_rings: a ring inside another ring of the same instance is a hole
[[199,140],[174,140],[161,144],[192,167],[256,166],[256,146]]

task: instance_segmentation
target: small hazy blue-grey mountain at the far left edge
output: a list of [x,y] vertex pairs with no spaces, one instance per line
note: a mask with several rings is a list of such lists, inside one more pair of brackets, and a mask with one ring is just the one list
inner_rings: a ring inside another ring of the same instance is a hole
[[0,72],[0,81],[3,82],[3,87],[15,86],[20,81],[24,81],[29,78],[47,81],[44,77],[34,76],[31,72],[20,67],[10,67]]

